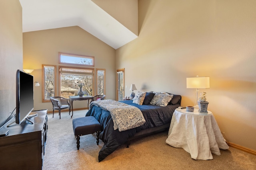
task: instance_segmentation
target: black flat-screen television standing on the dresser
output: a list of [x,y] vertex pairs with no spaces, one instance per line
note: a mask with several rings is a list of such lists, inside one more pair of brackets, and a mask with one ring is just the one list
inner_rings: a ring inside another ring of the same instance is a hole
[[17,70],[16,72],[16,123],[20,124],[34,109],[34,78]]

